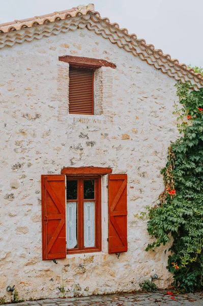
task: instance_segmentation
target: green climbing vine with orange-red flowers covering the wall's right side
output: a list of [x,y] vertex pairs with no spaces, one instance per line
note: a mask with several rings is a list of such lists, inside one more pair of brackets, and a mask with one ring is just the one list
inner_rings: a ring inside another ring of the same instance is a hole
[[[202,69],[195,67],[195,72]],[[181,291],[203,289],[203,88],[176,84],[180,104],[175,104],[180,138],[168,148],[161,170],[164,191],[148,207],[148,233],[154,250],[172,239],[167,269],[172,285]],[[181,105],[181,107],[180,107]]]

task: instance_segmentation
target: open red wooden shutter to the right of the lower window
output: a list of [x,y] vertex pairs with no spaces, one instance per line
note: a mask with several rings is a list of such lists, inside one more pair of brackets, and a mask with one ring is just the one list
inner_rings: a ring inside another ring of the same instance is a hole
[[127,174],[108,175],[108,252],[126,252]]

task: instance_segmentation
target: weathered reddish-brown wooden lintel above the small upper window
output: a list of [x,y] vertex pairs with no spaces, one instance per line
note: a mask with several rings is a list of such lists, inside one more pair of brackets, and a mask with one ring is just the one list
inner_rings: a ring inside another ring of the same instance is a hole
[[106,60],[99,60],[93,58],[79,57],[79,56],[59,56],[59,60],[62,62],[69,63],[72,67],[81,67],[81,68],[99,68],[99,67],[111,67],[115,69],[117,66]]

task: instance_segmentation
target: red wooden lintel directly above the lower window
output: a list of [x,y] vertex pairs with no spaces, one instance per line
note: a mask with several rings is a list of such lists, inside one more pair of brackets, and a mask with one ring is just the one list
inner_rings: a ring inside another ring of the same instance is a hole
[[61,174],[71,174],[71,175],[88,175],[88,174],[98,174],[104,175],[112,172],[111,168],[103,167],[67,167],[61,170]]

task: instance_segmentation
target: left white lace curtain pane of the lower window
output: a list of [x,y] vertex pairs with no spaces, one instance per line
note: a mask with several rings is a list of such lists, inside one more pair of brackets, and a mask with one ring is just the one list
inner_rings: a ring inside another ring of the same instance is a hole
[[77,202],[67,202],[66,240],[68,249],[77,247]]

